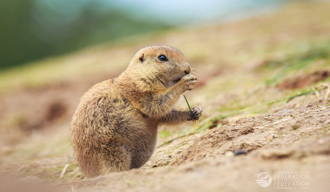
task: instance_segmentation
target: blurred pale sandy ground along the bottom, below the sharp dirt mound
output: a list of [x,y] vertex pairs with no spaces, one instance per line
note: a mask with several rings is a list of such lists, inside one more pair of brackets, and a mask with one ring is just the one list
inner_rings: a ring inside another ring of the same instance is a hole
[[[178,167],[134,169],[68,183],[77,191],[108,191],[109,188],[118,191],[272,191],[278,179],[273,177],[268,188],[261,188],[254,179],[262,172],[274,176],[274,171],[293,170],[308,171],[310,189],[325,191],[329,186],[329,144],[330,134],[326,134],[289,147],[260,148],[244,156],[209,158]],[[317,182],[324,184],[315,185]]]

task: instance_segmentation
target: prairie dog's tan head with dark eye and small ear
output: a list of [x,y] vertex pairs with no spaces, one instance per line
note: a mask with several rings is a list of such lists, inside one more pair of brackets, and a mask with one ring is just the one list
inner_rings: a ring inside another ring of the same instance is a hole
[[134,55],[122,75],[133,80],[143,91],[158,91],[170,88],[190,72],[191,67],[179,50],[149,46]]

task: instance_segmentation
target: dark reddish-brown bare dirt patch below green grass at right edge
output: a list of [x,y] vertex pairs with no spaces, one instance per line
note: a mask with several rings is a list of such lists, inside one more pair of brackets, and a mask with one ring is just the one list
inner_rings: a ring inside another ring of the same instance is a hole
[[329,76],[330,76],[330,71],[327,70],[315,71],[313,73],[308,73],[305,75],[301,75],[299,77],[292,77],[285,79],[281,83],[278,83],[276,87],[280,89],[297,89],[297,88],[305,87],[307,85],[311,85],[321,80],[325,80]]

